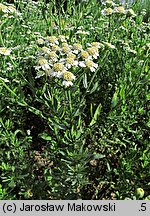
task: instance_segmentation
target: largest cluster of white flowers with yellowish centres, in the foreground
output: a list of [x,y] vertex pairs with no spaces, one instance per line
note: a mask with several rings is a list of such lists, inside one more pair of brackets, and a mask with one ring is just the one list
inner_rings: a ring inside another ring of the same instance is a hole
[[94,62],[99,56],[99,42],[88,43],[83,49],[80,43],[68,44],[64,35],[38,38],[38,55],[36,78],[47,75],[62,78],[62,85],[72,86],[75,75],[71,72],[75,68],[89,68],[94,72],[98,64]]

